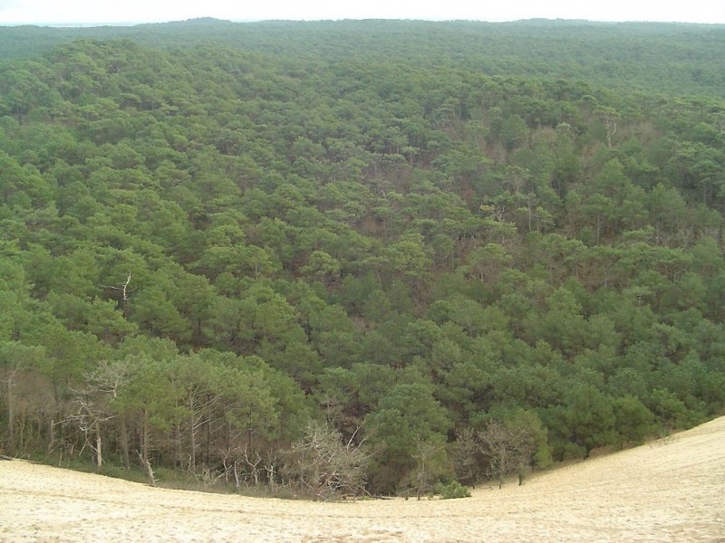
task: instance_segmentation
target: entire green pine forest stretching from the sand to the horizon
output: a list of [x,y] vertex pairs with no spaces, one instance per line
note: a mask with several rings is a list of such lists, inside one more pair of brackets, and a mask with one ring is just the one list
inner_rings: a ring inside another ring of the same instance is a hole
[[723,411],[721,26],[198,20],[0,51],[5,455],[445,494]]

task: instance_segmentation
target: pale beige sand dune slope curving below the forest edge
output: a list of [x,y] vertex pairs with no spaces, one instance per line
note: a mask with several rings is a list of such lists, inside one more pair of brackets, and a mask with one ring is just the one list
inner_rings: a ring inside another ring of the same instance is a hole
[[725,417],[463,500],[253,499],[0,461],[0,541],[725,543]]

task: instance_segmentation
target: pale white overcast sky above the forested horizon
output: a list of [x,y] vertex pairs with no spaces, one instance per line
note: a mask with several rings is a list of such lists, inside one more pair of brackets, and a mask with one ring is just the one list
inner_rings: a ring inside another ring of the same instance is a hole
[[0,0],[0,24],[266,19],[588,19],[725,24],[725,0]]

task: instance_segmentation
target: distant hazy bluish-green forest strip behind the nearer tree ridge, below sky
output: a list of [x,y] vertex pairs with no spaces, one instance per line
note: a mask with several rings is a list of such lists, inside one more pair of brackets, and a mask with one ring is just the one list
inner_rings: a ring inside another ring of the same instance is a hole
[[53,28],[0,27],[0,59],[43,54],[79,39],[130,39],[162,50],[223,46],[277,61],[396,59],[487,75],[566,78],[649,94],[725,95],[725,25],[324,21],[183,23]]

